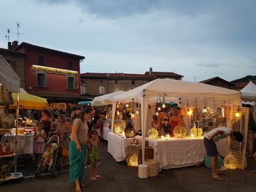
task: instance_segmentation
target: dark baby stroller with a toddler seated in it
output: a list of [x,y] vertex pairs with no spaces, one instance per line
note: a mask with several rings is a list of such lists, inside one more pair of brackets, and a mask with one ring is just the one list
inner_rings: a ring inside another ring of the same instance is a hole
[[[51,170],[51,176],[56,177],[58,166],[60,166],[60,164],[58,163],[58,156],[60,154],[60,138],[58,137],[58,135],[53,135],[52,137],[50,137],[46,143],[46,146],[48,146],[48,144],[51,144],[53,146],[53,167]],[[44,159],[42,156],[35,173],[36,178],[40,177],[43,173],[43,161]]]

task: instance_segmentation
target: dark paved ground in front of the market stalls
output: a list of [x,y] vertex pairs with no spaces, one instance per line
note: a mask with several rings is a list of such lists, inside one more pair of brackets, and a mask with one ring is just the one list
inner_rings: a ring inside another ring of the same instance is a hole
[[[141,179],[136,168],[114,161],[107,153],[107,142],[102,142],[100,155],[102,165],[97,168],[102,178],[90,181],[90,167],[85,168],[87,188],[83,191],[256,191],[256,174],[252,174],[256,166],[252,159],[244,171],[224,171],[225,181],[216,181],[205,166],[164,170],[159,176]],[[2,183],[0,191],[74,191],[73,184],[68,183],[68,167],[58,173],[57,178],[46,175],[36,179],[32,161],[26,159],[23,164],[18,171],[22,171],[25,178]]]

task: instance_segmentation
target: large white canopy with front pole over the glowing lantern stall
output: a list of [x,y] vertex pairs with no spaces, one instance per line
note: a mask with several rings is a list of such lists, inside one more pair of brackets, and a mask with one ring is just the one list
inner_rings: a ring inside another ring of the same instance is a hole
[[[225,102],[225,105],[241,105],[240,92],[228,90],[223,87],[215,87],[213,85],[203,84],[201,82],[186,82],[183,80],[172,79],[156,79],[148,82],[140,87],[125,92],[122,95],[114,97],[115,101],[131,101],[142,104],[142,161],[144,164],[144,142],[146,135],[146,115],[148,105],[152,98],[161,97],[171,98],[176,97],[180,102],[181,107],[185,107],[189,102],[190,105],[197,100],[198,105],[205,105],[206,102],[218,103]],[[210,105],[210,104],[208,104]],[[113,111],[114,113],[114,111]]]

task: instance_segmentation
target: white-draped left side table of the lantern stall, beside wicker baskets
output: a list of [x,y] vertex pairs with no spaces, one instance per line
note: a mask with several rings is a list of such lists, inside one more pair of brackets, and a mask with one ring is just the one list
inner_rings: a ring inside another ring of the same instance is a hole
[[[142,137],[134,137],[142,143]],[[124,161],[126,158],[126,147],[128,144],[132,144],[134,138],[125,138],[123,136],[118,136],[113,132],[107,134],[107,151],[113,156],[116,161]]]

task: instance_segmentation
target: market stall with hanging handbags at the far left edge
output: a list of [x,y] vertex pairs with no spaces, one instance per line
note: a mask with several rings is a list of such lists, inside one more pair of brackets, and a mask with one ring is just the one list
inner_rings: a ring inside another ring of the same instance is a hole
[[[18,92],[20,89],[20,78],[18,78],[18,75],[14,72],[14,70],[11,68],[11,65],[6,62],[6,60],[0,55],[0,85],[1,85],[1,105],[6,102],[6,100],[11,99],[11,95],[9,94],[9,91],[6,90],[11,90],[14,92]],[[19,94],[17,94],[17,106],[16,106],[16,141],[18,140],[18,111],[19,111],[19,105],[18,105],[18,97]],[[9,103],[10,104],[10,103]],[[4,113],[2,113],[4,114]],[[2,115],[1,115],[2,117]],[[1,120],[1,131],[4,132],[11,132],[9,129],[10,124],[6,124]],[[12,142],[13,143],[13,142]],[[0,158],[6,158],[6,157],[11,157],[14,156],[14,173],[11,173],[10,175],[4,175],[3,178],[0,178],[0,183],[3,181],[9,181],[9,180],[14,180],[18,178],[22,178],[23,174],[17,172],[17,142],[14,144],[14,153],[13,154],[8,154],[8,155],[2,155]],[[6,144],[4,144],[6,146]],[[9,146],[11,146],[11,143],[9,143]],[[1,154],[6,154],[9,150],[3,150],[3,144],[1,144]],[[9,149],[9,148],[6,148]],[[9,172],[11,168],[9,168],[9,165],[6,166],[1,166],[1,172]],[[1,173],[2,175],[3,173]]]

